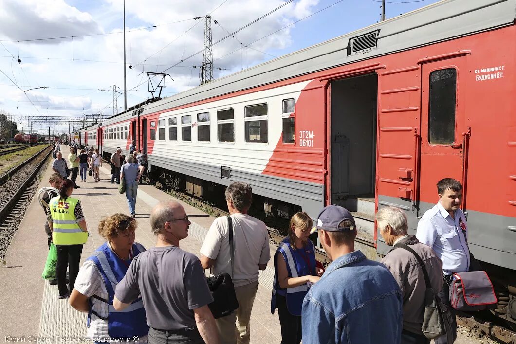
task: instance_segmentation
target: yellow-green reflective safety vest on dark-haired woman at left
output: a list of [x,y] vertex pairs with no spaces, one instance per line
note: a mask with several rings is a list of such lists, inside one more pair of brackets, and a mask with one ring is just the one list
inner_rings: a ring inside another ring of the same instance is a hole
[[60,196],[50,200],[52,214],[52,231],[54,245],[79,245],[88,241],[88,233],[84,232],[75,219],[76,198],[68,197],[59,200]]

